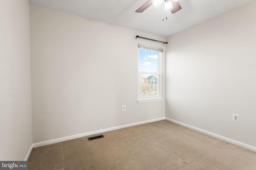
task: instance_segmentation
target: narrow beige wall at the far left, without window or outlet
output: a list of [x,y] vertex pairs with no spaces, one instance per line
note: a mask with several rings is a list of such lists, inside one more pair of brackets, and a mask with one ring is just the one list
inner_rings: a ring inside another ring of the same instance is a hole
[[32,145],[29,11],[0,1],[0,160],[24,160]]

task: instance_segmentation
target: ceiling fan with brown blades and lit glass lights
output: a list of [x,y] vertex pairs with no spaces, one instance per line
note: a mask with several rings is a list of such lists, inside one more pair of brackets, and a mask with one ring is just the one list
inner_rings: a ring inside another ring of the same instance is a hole
[[164,2],[164,11],[166,12],[171,11],[172,14],[174,14],[175,12],[178,12],[179,10],[181,10],[181,6],[178,1],[179,0],[149,0],[135,12],[141,13],[145,11],[148,7],[150,7],[152,4],[154,7],[158,8]]

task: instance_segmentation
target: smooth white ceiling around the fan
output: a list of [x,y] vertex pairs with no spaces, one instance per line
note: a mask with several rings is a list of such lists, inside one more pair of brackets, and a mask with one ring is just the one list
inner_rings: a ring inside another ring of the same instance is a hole
[[[168,12],[162,21],[162,6],[135,11],[148,0],[29,0],[30,4],[168,37],[252,0],[180,0],[182,9]],[[238,11],[239,12],[239,11]]]

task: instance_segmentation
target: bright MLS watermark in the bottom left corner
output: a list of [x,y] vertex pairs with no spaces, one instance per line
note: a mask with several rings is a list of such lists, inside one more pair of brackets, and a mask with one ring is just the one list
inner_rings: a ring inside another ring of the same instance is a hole
[[28,161],[0,161],[0,170],[28,170]]

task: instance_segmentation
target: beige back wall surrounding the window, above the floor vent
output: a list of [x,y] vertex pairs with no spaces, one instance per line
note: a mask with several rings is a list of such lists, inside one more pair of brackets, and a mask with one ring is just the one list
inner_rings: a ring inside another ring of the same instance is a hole
[[[138,104],[138,43],[158,37],[30,6],[33,143],[164,117]],[[126,105],[126,111],[122,111]]]

